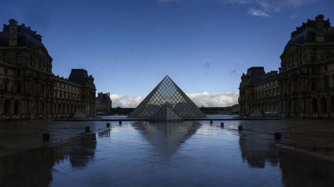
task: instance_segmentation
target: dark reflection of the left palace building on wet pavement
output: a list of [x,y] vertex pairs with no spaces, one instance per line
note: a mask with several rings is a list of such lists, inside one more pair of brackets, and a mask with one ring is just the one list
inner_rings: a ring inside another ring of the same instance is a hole
[[53,180],[53,167],[57,169],[57,166],[86,166],[89,159],[94,157],[95,149],[94,134],[55,147],[38,149],[18,157],[1,160],[0,187],[48,187]]

